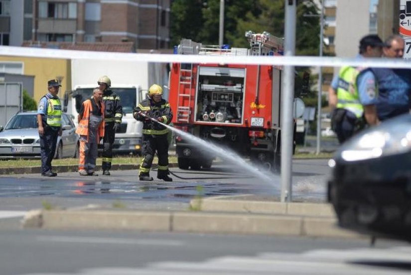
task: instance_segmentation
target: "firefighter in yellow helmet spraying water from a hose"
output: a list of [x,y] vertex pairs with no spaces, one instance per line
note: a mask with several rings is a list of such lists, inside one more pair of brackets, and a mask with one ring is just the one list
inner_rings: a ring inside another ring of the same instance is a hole
[[[172,179],[168,176],[168,129],[156,121],[169,124],[173,117],[170,104],[161,96],[163,89],[157,84],[153,84],[148,90],[148,98],[141,101],[133,110],[136,120],[143,122],[142,150],[144,157],[141,160],[140,181],[152,181],[150,168],[157,151],[158,170],[157,178],[167,182]],[[153,118],[153,121],[149,118]]]

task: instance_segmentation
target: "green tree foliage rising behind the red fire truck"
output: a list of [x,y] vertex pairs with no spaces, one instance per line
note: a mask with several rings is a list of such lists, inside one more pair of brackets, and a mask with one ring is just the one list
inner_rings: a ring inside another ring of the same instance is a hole
[[[245,32],[268,31],[284,36],[284,0],[225,0],[224,43],[248,47]],[[296,54],[318,55],[319,9],[313,0],[298,1]],[[309,15],[309,16],[307,16]],[[181,38],[203,44],[218,44],[220,0],[174,0],[171,5],[172,45]]]

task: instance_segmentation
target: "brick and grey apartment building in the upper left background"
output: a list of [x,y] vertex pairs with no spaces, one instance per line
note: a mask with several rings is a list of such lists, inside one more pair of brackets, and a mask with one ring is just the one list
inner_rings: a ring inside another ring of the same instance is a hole
[[170,0],[0,0],[0,42],[132,41],[162,49],[169,18]]

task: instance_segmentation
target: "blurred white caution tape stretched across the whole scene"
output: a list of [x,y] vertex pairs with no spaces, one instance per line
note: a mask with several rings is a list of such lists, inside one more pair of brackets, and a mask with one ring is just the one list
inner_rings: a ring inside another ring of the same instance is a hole
[[[250,56],[250,55],[190,55],[190,54],[151,54],[63,50],[34,47],[0,46],[0,56],[44,57],[56,59],[105,59],[132,62],[162,63],[226,63],[261,64],[283,66],[323,66],[323,67],[390,67],[411,68],[411,62],[394,58],[340,58],[318,56]],[[0,57],[1,58],[1,57]]]

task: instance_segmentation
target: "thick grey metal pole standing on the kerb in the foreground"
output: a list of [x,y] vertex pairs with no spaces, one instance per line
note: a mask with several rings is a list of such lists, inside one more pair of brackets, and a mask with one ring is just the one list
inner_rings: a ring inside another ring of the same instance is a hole
[[[285,1],[285,56],[295,52],[295,0]],[[294,66],[284,67],[281,95],[281,202],[292,200],[292,107],[294,99]]]

